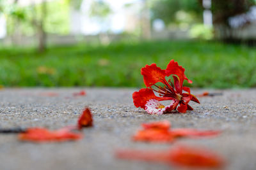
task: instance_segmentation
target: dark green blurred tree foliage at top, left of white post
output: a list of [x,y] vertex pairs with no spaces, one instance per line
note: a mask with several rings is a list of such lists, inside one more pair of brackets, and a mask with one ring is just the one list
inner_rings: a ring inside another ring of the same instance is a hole
[[202,20],[203,8],[198,0],[154,0],[150,4],[150,10],[152,11],[152,20],[160,18],[164,24],[168,25],[176,21],[177,11],[186,11],[198,20]]

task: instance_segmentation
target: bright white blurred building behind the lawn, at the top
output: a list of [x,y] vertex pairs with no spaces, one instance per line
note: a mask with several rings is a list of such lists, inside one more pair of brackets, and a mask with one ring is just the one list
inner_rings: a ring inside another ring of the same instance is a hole
[[[92,35],[100,32],[120,33],[135,31],[139,23],[140,3],[138,0],[105,0],[111,8],[111,14],[97,20],[90,17],[90,6],[95,0],[83,0],[79,10],[70,11],[70,33]],[[129,6],[125,4],[131,3]]]

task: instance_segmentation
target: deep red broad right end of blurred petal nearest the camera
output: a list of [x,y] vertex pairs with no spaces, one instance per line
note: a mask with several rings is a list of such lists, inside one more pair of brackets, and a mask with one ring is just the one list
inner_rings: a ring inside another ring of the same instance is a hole
[[209,150],[179,146],[173,148],[170,160],[176,166],[186,167],[221,167],[223,159]]

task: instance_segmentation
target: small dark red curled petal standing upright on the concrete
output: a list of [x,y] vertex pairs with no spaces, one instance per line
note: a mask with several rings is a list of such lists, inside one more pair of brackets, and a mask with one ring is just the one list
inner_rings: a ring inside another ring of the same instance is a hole
[[92,113],[89,108],[85,108],[81,117],[77,121],[78,128],[93,126]]

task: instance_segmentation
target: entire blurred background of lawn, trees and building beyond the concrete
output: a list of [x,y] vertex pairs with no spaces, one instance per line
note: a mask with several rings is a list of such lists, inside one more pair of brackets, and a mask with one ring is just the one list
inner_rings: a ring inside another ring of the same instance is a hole
[[0,87],[141,87],[171,59],[193,87],[256,87],[256,0],[0,0]]

